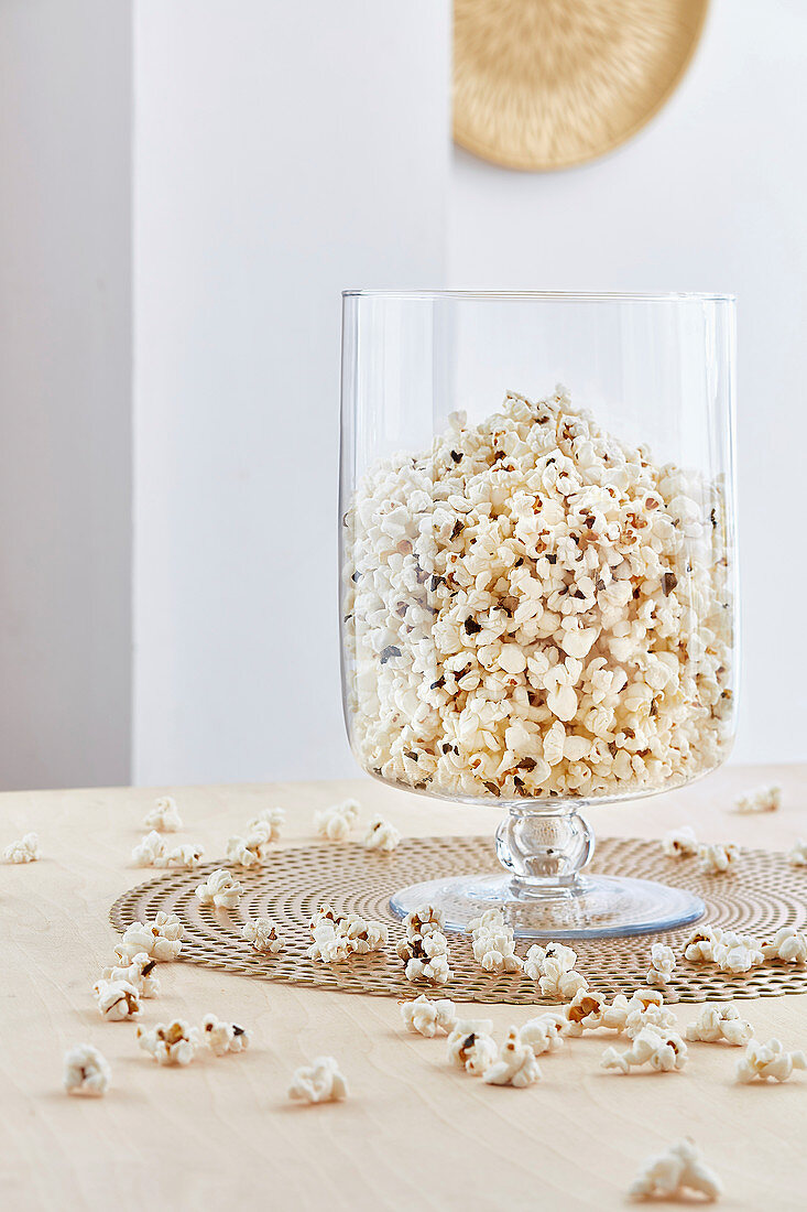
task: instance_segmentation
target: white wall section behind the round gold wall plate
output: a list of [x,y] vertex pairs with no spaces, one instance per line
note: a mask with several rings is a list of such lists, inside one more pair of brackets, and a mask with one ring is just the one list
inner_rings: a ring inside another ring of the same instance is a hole
[[559,173],[454,152],[453,286],[738,296],[745,681],[734,751],[807,759],[807,5],[712,0],[671,102]]

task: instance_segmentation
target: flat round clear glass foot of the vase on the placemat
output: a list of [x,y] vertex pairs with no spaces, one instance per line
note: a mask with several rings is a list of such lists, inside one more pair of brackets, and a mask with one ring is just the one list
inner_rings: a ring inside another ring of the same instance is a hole
[[688,926],[706,911],[700,897],[653,880],[579,875],[568,887],[528,888],[510,875],[460,875],[411,884],[390,897],[399,917],[440,908],[445,928],[465,931],[486,909],[502,909],[516,938],[617,938]]

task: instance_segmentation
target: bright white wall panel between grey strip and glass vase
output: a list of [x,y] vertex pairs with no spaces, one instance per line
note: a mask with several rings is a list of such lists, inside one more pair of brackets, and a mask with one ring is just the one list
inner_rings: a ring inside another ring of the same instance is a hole
[[440,282],[448,5],[136,4],[134,778],[355,771],[339,291]]

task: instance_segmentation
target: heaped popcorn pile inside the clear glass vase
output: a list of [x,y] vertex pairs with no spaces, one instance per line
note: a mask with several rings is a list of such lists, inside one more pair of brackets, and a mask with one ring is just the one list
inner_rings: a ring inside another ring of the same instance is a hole
[[732,707],[720,482],[603,433],[568,393],[452,413],[344,516],[362,765],[445,796],[611,796],[719,764]]

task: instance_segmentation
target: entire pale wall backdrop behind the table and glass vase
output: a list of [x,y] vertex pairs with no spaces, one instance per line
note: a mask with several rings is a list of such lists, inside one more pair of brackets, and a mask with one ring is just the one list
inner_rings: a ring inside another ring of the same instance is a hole
[[348,285],[737,292],[736,755],[807,758],[807,6],[712,0],[670,104],[557,175],[452,152],[448,0],[235,12],[0,6],[0,787],[353,772]]

